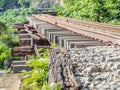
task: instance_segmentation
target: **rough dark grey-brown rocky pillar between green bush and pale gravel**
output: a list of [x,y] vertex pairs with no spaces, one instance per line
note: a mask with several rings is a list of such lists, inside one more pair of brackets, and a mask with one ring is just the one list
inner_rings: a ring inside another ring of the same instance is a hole
[[70,55],[56,48],[51,49],[50,56],[49,83],[57,83],[64,90],[78,90]]

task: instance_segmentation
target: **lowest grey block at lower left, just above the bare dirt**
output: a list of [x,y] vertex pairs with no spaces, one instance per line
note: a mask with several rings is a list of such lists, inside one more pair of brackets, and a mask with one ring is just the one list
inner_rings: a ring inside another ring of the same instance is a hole
[[13,65],[12,66],[13,73],[20,73],[22,70],[30,71],[31,68],[28,65]]

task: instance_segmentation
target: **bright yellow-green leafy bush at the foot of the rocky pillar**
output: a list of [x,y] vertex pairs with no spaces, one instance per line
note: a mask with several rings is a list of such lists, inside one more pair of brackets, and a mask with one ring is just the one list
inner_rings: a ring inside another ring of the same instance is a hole
[[31,71],[22,73],[21,90],[61,90],[56,83],[48,83],[48,57],[49,49],[38,49],[39,57],[32,56],[27,64]]

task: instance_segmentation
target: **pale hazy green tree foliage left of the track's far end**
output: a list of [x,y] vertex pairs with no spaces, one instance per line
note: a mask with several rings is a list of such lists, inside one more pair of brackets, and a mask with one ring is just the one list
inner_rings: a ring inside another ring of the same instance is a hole
[[13,27],[15,23],[21,23],[26,20],[26,15],[35,13],[36,9],[34,8],[25,8],[22,10],[7,10],[0,20],[5,23],[7,27]]

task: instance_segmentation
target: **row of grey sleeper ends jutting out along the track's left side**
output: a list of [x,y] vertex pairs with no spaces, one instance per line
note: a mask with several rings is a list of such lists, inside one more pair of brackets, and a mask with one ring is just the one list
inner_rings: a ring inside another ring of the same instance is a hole
[[106,45],[105,42],[89,38],[78,32],[73,32],[45,21],[41,21],[32,16],[28,16],[27,19],[29,24],[36,28],[36,30],[42,36],[46,37],[48,41],[56,43],[58,46],[64,47],[66,49]]

